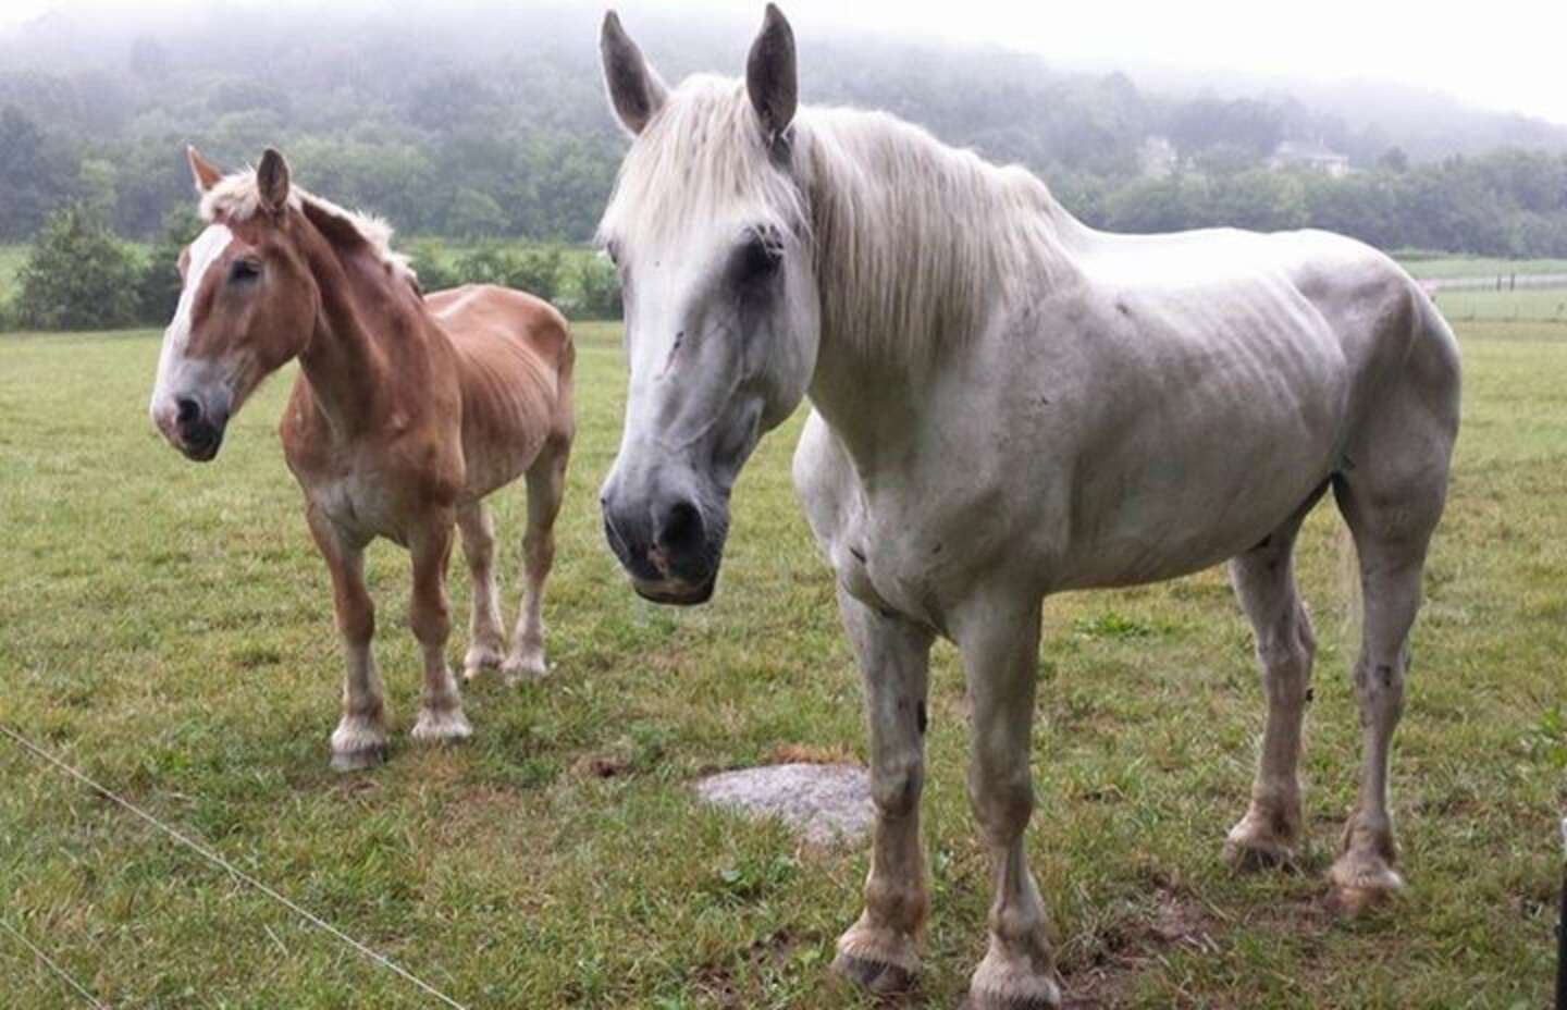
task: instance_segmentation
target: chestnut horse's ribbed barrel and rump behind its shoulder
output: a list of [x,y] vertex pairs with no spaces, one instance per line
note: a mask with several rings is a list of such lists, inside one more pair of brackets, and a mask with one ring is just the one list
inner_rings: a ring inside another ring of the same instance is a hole
[[575,354],[555,306],[487,284],[432,292],[425,303],[456,350],[473,494],[519,477],[547,444],[570,442]]

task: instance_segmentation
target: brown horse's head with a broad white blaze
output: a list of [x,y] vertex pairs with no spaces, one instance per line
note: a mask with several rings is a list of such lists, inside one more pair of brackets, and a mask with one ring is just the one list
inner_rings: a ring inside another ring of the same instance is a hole
[[176,449],[207,461],[260,381],[304,348],[320,292],[296,242],[302,218],[284,157],[268,147],[254,173],[235,176],[194,147],[188,157],[207,229],[180,252],[183,287],[149,409]]

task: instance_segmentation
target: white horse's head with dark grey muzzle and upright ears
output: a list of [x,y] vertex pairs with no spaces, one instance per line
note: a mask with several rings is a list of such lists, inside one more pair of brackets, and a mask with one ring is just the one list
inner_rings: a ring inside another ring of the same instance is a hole
[[820,296],[794,174],[794,36],[768,6],[744,83],[669,91],[611,13],[610,99],[632,133],[600,240],[621,270],[630,391],[602,503],[638,593],[713,593],[729,492],[805,395]]

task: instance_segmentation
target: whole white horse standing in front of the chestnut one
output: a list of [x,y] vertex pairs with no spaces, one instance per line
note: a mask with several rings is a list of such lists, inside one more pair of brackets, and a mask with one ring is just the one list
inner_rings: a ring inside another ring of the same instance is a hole
[[1288,859],[1313,654],[1291,547],[1329,488],[1365,590],[1365,768],[1330,880],[1351,905],[1399,888],[1388,747],[1459,425],[1457,345],[1410,278],[1321,232],[1106,235],[1020,168],[887,114],[798,110],[773,6],[744,82],[668,89],[613,14],[603,61],[635,135],[602,223],[630,356],[603,514],[642,596],[708,598],[736,472],[807,392],[815,408],[794,481],[865,674],[878,808],[837,968],[895,990],[918,966],[926,657],[945,635],[993,856],[972,1002],[1059,1002],[1023,830],[1040,601],[1062,590],[1230,561],[1268,721],[1225,848]]

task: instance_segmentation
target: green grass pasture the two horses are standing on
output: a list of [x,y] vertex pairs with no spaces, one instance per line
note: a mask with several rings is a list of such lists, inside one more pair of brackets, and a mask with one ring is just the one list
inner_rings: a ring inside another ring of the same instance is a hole
[[[1465,427],[1396,748],[1409,892],[1357,921],[1323,902],[1359,739],[1324,505],[1301,547],[1321,640],[1304,874],[1233,875],[1218,858],[1263,710],[1224,572],[1047,604],[1030,852],[1077,1005],[1547,1005],[1567,803],[1567,328],[1460,337]],[[274,434],[287,381],[199,467],[146,419],[152,334],[0,339],[0,721],[469,1007],[870,1007],[827,972],[865,852],[801,848],[688,789],[787,747],[863,758],[832,579],[788,486],[801,417],[741,478],[716,601],[639,602],[594,494],[619,433],[617,334],[580,340],[553,678],[470,690],[467,747],[411,745],[406,555],[381,546],[396,737],[387,767],[343,778],[326,767],[326,572]],[[520,492],[501,499],[508,576],[520,513]],[[912,1005],[953,1007],[990,886],[948,646],[931,714],[934,914]],[[3,739],[0,781],[0,922],[102,1002],[432,1005]],[[6,1007],[74,1005],[5,930],[0,979]]]

